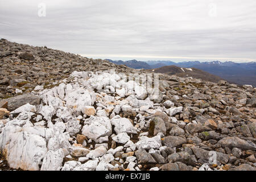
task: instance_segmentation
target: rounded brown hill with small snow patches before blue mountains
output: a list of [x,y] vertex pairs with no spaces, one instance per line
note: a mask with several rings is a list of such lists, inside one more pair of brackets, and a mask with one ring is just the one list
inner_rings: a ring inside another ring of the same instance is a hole
[[221,77],[212,75],[208,72],[202,71],[197,68],[180,68],[180,67],[171,65],[171,66],[151,69],[151,71],[153,70],[155,73],[166,73],[167,75],[176,75],[179,77],[193,77],[198,79],[200,78],[205,81],[218,82],[220,80],[223,80]]

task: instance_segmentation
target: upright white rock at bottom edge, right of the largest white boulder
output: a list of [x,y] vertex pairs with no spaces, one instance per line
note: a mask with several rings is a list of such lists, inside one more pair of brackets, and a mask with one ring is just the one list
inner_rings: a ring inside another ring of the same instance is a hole
[[57,171],[62,166],[64,158],[64,152],[60,148],[59,150],[49,150],[44,157],[41,171]]

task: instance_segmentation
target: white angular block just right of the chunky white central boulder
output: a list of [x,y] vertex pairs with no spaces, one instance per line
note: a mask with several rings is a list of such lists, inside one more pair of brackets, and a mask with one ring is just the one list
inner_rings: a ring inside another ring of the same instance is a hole
[[121,118],[119,115],[115,115],[111,120],[112,125],[114,125],[115,133],[128,133],[128,134],[137,134],[136,128],[127,118]]

